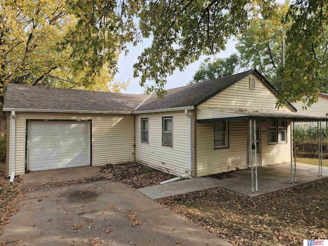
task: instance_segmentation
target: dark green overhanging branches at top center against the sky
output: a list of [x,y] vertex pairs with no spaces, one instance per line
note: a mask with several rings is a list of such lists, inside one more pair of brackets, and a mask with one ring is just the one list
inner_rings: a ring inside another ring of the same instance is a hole
[[[152,81],[150,91],[163,95],[168,75],[183,70],[200,55],[224,50],[228,38],[242,32],[254,12],[271,14],[274,1],[145,1],[139,27],[144,37],[153,37],[134,65],[140,85]],[[257,7],[257,8],[255,8]]]

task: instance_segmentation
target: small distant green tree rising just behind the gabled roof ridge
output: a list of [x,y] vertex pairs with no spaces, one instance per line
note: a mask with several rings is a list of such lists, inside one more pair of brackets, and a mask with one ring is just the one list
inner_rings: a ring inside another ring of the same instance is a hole
[[234,53],[227,58],[217,58],[213,63],[201,63],[199,69],[190,81],[190,84],[218,78],[220,75],[228,76],[241,72],[241,60]]

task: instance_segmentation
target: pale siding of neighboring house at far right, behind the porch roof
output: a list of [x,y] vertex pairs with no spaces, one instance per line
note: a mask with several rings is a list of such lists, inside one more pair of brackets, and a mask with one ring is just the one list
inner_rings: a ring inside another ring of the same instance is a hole
[[[319,116],[326,116],[328,114],[328,98],[324,96],[318,97],[317,103],[311,105],[310,107],[307,107],[306,109],[302,109],[304,104],[302,101],[297,101],[296,103],[293,103],[293,106],[298,110],[299,113],[302,114],[314,114],[314,115],[319,115]],[[317,122],[295,122],[295,127],[317,127]],[[324,122],[324,126],[326,126]]]

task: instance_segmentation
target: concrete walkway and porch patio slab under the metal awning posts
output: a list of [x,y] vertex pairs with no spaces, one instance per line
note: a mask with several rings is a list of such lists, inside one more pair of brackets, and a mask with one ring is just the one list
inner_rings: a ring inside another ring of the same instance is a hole
[[318,177],[318,166],[297,163],[297,182],[291,183],[290,163],[282,163],[258,167],[258,192],[254,193],[252,193],[250,168],[234,171],[230,173],[229,178],[201,177],[185,179],[159,186],[142,188],[139,191],[151,199],[159,199],[215,187],[224,187],[245,195],[258,196],[325,177],[328,177],[327,167],[322,167],[322,176]]

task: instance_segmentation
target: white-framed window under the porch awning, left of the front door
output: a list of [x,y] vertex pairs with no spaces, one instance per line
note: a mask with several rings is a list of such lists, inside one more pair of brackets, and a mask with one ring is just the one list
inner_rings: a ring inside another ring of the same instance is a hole
[[214,149],[229,148],[229,121],[214,121]]

